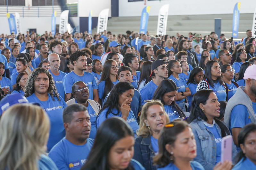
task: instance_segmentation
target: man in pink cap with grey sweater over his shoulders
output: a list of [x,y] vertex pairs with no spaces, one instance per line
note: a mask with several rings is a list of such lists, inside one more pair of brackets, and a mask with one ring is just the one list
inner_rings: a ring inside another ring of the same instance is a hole
[[249,66],[244,72],[245,86],[237,88],[226,106],[224,122],[233,136],[237,150],[238,134],[249,123],[256,123],[256,65]]

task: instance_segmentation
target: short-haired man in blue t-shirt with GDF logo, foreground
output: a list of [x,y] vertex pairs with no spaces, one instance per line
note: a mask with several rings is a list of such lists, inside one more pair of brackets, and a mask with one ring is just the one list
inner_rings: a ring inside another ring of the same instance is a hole
[[66,136],[49,152],[58,169],[78,170],[86,162],[94,140],[89,138],[90,116],[82,104],[72,104],[63,111]]

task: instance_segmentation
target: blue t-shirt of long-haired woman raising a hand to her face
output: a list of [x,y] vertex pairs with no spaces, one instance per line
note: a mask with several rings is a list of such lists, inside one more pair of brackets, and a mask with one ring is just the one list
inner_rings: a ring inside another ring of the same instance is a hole
[[[108,115],[108,117],[106,118],[106,113],[107,113],[108,107],[106,109],[104,109],[99,115],[98,118],[96,120],[96,124],[97,127],[100,127],[101,123],[104,122],[104,120],[106,120],[107,118],[111,118],[114,116],[118,116],[118,117],[122,117],[122,113],[118,112],[117,109],[113,108],[111,110],[111,113]],[[139,125],[137,122],[136,117],[134,116],[132,110],[129,111],[128,117],[126,122],[130,125],[130,127],[133,129],[134,132],[134,137],[137,137],[136,135],[136,130],[139,129]]]

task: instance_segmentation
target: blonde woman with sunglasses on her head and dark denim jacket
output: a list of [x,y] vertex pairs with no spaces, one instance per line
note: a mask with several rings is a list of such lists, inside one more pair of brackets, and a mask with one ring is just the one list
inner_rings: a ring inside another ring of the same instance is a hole
[[133,159],[147,170],[157,169],[157,166],[153,165],[153,157],[158,153],[160,131],[167,122],[169,117],[160,101],[151,100],[143,105]]

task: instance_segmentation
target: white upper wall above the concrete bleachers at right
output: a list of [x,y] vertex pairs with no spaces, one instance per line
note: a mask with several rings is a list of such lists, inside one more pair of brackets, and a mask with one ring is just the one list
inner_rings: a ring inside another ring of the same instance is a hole
[[170,4],[169,15],[203,15],[203,14],[232,14],[234,6],[241,2],[240,13],[254,13],[255,0],[161,0],[128,2],[119,0],[119,16],[141,16],[145,6],[151,6],[149,16],[158,16],[162,5]]

